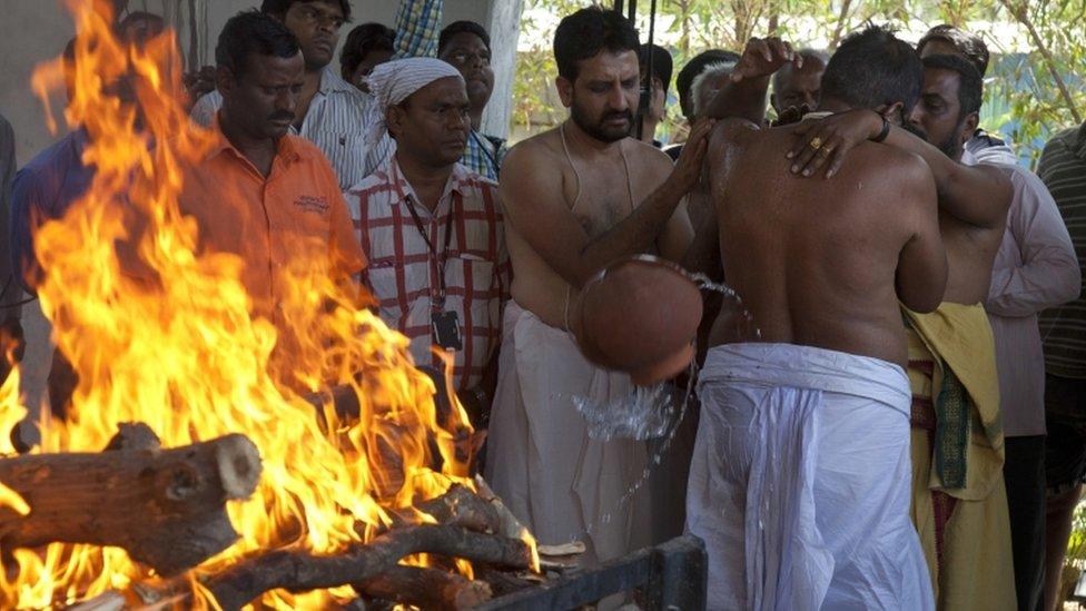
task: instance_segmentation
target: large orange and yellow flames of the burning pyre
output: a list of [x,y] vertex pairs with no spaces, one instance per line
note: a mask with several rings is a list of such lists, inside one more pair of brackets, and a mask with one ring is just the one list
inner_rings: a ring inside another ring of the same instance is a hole
[[[289,290],[273,323],[251,315],[237,257],[197,248],[197,228],[179,214],[177,197],[185,164],[200,159],[211,138],[189,124],[179,102],[172,33],[124,45],[105,2],[69,6],[78,38],[66,118],[89,134],[85,161],[97,175],[63,219],[36,236],[41,306],[79,381],[68,420],[43,416],[33,452],[101,451],[122,422],[148,424],[165,447],[249,436],[264,463],[260,485],[229,506],[241,539],[188,573],[196,592],[201,574],[244,554],[284,545],[343,550],[369,535],[367,529],[359,534],[358,522],[373,531],[389,522],[391,507],[408,507],[454,482],[471,486],[460,450],[466,415],[456,407],[438,422],[433,383],[412,366],[406,339],[349,287],[298,260],[284,272]],[[126,75],[138,105],[110,93],[109,85]],[[62,83],[61,60],[40,67],[32,81],[43,99]],[[227,205],[229,186],[223,187]],[[132,215],[146,219],[147,230],[129,236]],[[127,273],[118,246],[126,240],[149,275]],[[6,432],[27,413],[18,384],[14,372],[0,390],[4,453],[14,450]],[[317,417],[307,394],[333,386],[357,395],[357,420],[332,407]],[[0,485],[0,509],[33,507]],[[18,570],[0,571],[3,608],[62,605],[155,576],[119,549],[52,544],[13,554]],[[351,592],[274,592],[263,602],[294,609],[327,597],[344,600]],[[192,603],[213,605],[199,594]]]

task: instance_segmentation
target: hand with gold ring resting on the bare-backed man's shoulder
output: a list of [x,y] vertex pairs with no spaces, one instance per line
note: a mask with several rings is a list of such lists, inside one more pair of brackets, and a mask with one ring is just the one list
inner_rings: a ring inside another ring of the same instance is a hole
[[831,178],[845,162],[845,156],[882,130],[882,117],[868,109],[839,112],[825,119],[803,121],[792,129],[798,141],[787,157],[792,174],[813,176],[827,162],[826,178]]

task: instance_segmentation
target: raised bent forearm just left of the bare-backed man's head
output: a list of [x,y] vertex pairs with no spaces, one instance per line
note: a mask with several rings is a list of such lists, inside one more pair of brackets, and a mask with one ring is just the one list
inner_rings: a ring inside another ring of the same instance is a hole
[[790,61],[794,61],[797,68],[803,65],[803,58],[796,55],[788,42],[779,38],[750,39],[731,78],[705,109],[705,116],[713,119],[738,117],[761,125],[766,118],[769,79]]

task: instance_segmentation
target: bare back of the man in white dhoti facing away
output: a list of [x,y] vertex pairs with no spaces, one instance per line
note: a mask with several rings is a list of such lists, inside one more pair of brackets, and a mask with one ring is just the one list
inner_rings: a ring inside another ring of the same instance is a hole
[[[947,259],[935,181],[915,155],[866,144],[836,179],[788,173],[789,128],[728,120],[710,145],[711,193],[728,283],[764,342],[816,346],[902,367],[899,299],[929,312]],[[732,341],[730,313],[710,345]]]

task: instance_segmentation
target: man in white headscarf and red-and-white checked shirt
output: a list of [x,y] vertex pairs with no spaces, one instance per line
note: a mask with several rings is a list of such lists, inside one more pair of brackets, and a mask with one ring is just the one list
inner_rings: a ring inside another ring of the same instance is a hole
[[453,362],[454,390],[477,426],[510,264],[497,185],[461,161],[472,130],[464,79],[440,59],[408,58],[374,68],[369,87],[384,115],[375,129],[396,152],[347,194],[372,262],[363,280],[385,323],[411,339],[416,365],[442,372]]

